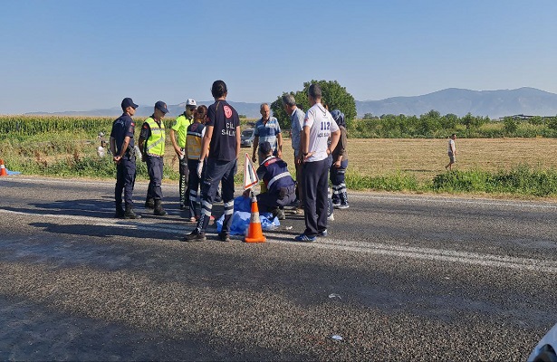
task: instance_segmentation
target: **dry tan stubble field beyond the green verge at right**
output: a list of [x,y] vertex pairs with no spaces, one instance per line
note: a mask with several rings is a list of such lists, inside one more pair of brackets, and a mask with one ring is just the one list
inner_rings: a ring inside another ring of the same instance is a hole
[[[557,168],[557,148],[554,138],[462,138],[456,139],[455,169],[494,171],[528,164],[531,167]],[[245,153],[242,148],[241,165]],[[283,141],[283,159],[293,166],[291,140]],[[349,170],[362,176],[379,176],[398,172],[410,173],[419,180],[432,179],[445,172],[448,163],[447,139],[423,138],[350,138],[348,140]],[[172,160],[174,150],[166,149],[166,159]],[[173,162],[178,171],[178,162]],[[293,167],[292,167],[293,171]]]

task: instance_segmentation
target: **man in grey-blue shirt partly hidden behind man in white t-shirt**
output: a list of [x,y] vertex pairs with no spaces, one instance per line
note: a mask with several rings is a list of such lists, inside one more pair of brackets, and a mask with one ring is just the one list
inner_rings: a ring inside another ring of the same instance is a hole
[[296,188],[300,206],[296,209],[296,214],[303,214],[303,182],[302,182],[302,157],[300,157],[300,139],[302,135],[303,119],[305,113],[296,107],[296,100],[292,94],[283,95],[283,106],[286,114],[290,116],[290,137],[292,138],[292,148],[294,150],[294,165],[296,166]]

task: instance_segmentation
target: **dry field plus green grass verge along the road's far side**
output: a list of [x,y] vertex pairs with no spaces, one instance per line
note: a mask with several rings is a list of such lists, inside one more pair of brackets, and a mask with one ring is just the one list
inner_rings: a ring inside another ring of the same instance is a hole
[[[58,131],[12,137],[0,144],[6,166],[27,175],[114,177],[110,158],[96,155],[99,140],[84,131]],[[447,175],[447,138],[349,138],[347,186],[389,191],[516,194],[557,197],[555,138],[458,138],[457,172]],[[291,140],[284,139],[283,158],[294,174]],[[245,153],[242,148],[241,182]],[[518,168],[517,168],[518,167]],[[486,175],[490,174],[490,175]],[[447,177],[448,176],[448,177]],[[147,178],[139,163],[139,179]],[[165,177],[178,179],[178,158],[169,138]]]

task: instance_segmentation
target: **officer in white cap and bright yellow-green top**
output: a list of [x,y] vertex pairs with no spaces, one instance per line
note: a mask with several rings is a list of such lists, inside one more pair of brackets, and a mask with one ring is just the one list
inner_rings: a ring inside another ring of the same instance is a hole
[[[184,157],[184,152],[186,150],[186,138],[187,138],[187,127],[193,123],[194,111],[197,110],[196,100],[188,98],[186,100],[186,110],[184,113],[180,114],[170,129],[170,140],[172,141],[172,146],[174,151],[179,157],[179,170],[180,170],[180,181],[179,181],[179,194],[180,194],[180,210],[187,208],[187,176],[189,176],[189,171],[187,170],[187,157]],[[176,139],[176,134],[178,133],[178,140]]]

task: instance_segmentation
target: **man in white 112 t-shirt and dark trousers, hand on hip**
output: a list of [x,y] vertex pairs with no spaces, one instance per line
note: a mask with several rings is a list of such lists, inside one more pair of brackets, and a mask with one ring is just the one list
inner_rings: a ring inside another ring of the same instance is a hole
[[[329,164],[327,157],[337,147],[341,129],[322,103],[321,86],[313,83],[308,90],[312,107],[303,119],[300,149],[303,160],[305,230],[294,240],[312,243],[317,236],[327,236]],[[331,144],[328,138],[331,136]]]

